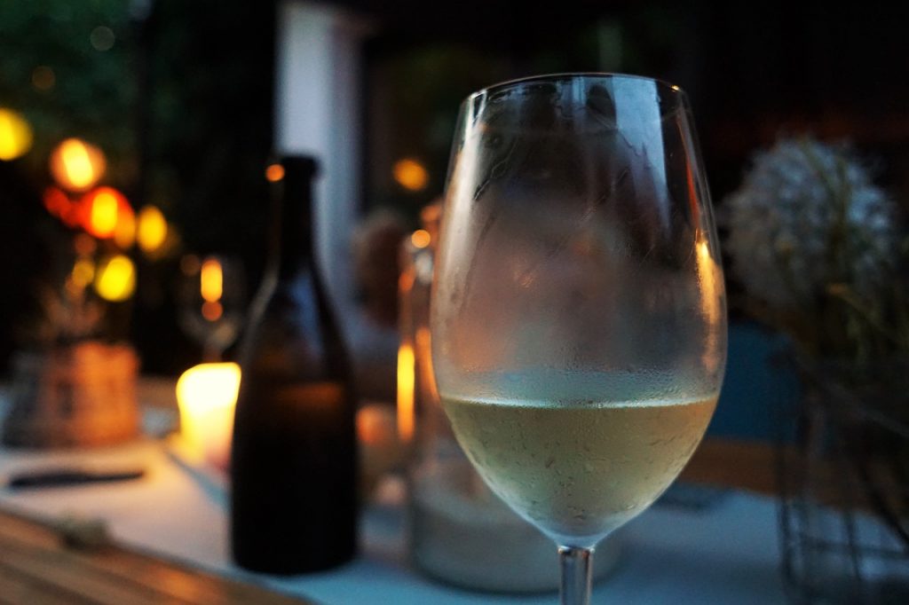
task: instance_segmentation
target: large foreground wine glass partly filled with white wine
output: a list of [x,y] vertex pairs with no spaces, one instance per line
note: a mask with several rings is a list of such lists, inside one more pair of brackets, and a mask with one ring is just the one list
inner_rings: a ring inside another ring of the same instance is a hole
[[595,545],[682,471],[723,380],[723,273],[684,92],[553,74],[468,97],[431,329],[464,452],[557,544],[562,602],[589,602]]

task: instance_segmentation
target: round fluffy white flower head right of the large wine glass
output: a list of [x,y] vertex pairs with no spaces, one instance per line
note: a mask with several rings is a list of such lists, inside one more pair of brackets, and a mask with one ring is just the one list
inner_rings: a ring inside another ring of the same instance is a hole
[[834,284],[874,295],[896,251],[895,210],[847,147],[781,139],[724,201],[725,248],[749,295],[810,311]]

